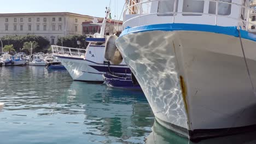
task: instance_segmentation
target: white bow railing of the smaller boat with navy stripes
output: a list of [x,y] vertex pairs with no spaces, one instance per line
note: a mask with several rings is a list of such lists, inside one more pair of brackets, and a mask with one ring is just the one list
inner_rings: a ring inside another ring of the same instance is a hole
[[57,45],[51,45],[51,49],[55,56],[84,57],[86,52],[85,49]]

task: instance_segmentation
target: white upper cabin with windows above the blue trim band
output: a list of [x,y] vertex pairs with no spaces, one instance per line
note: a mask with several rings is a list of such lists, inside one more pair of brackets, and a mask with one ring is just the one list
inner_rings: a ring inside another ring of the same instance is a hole
[[248,0],[129,0],[124,28],[160,23],[193,23],[248,28]]

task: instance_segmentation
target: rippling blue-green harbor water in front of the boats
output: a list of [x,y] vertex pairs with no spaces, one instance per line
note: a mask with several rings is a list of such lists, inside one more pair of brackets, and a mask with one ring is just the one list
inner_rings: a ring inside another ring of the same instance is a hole
[[[193,143],[155,122],[146,97],[67,71],[0,67],[0,143]],[[256,143],[255,133],[199,143]]]

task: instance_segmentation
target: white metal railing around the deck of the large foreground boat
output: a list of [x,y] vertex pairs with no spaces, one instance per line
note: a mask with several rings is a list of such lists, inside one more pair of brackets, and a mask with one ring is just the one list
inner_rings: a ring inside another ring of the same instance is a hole
[[[123,16],[124,16],[123,28],[125,29],[127,27],[127,22],[129,22],[131,20],[135,20],[135,19],[138,19],[138,25],[137,26],[142,26],[141,25],[142,17],[146,17],[146,16],[150,16],[150,15],[169,15],[169,16],[171,15],[172,16],[172,23],[176,23],[176,17],[181,16],[181,15],[183,15],[183,16],[184,15],[208,15],[208,16],[214,16],[214,19],[215,19],[214,24],[216,26],[220,26],[220,25],[218,25],[218,18],[219,17],[226,17],[228,19],[236,20],[237,22],[242,22],[243,25],[245,25],[244,29],[246,29],[246,31],[248,31],[249,25],[254,26],[254,23],[249,21],[249,18],[251,16],[251,14],[253,13],[254,9],[250,8],[250,7],[247,7],[245,5],[232,3],[232,2],[224,2],[224,1],[219,1],[219,0],[217,0],[217,1],[216,0],[191,0],[191,1],[208,1],[209,3],[211,2],[211,3],[216,4],[215,14],[184,12],[184,11],[180,12],[180,11],[178,11],[178,8],[176,6],[178,0],[174,0],[174,4],[171,6],[171,7],[173,7],[173,11],[164,12],[164,13],[159,13],[157,11],[156,13],[150,13],[150,8],[149,7],[152,6],[152,3],[154,3],[154,2],[163,2],[163,1],[169,1],[170,2],[170,0],[151,0],[151,1],[144,1],[144,2],[135,3],[135,4],[132,4],[130,6],[127,5],[127,7],[126,7],[126,9],[124,10],[124,13],[123,13]],[[246,15],[246,17],[242,19],[240,16],[231,17],[230,15],[220,15],[219,14],[219,8],[218,8],[219,4],[230,4],[231,9],[232,9],[232,6],[235,5],[241,11],[246,11],[246,13],[244,14],[244,16]],[[146,9],[146,11],[144,11],[145,9]],[[126,15],[131,15],[131,14],[136,14],[136,15],[126,19]]]

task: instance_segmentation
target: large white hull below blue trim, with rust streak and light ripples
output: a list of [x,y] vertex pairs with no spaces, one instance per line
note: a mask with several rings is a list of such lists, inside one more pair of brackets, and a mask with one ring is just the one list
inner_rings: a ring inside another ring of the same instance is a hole
[[[255,87],[256,42],[242,42]],[[203,139],[256,124],[256,95],[238,37],[202,31],[135,31],[121,35],[117,46],[156,120],[166,128]]]

